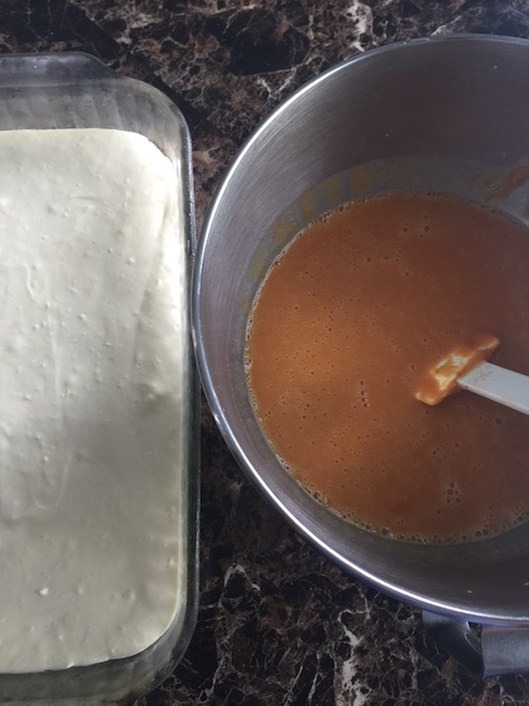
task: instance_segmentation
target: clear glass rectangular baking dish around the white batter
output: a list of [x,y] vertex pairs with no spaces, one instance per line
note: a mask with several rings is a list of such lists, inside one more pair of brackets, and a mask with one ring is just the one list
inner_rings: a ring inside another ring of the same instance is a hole
[[[179,245],[186,260],[188,308],[195,243],[194,203],[191,140],[179,110],[158,90],[116,74],[88,54],[0,56],[0,129],[50,128],[114,128],[139,132],[169,157],[180,177],[178,201],[184,228]],[[188,647],[197,609],[199,416],[189,316],[184,319],[184,459],[179,519],[183,591],[175,618],[157,642],[132,657],[57,671],[0,675],[0,702],[130,702],[160,683]]]

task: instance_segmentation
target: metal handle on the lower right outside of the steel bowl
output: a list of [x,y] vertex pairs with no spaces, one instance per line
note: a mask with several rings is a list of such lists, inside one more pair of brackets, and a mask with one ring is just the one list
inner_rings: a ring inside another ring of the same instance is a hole
[[481,639],[464,620],[423,611],[423,620],[436,642],[483,678],[529,673],[529,625],[481,627]]

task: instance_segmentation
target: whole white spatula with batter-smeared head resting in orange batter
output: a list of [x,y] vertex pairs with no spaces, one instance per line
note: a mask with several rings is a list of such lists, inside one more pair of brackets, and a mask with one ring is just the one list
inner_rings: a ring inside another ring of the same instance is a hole
[[457,346],[428,370],[415,397],[426,405],[438,405],[449,395],[467,389],[529,414],[529,376],[487,362],[499,345],[499,338],[485,334]]

